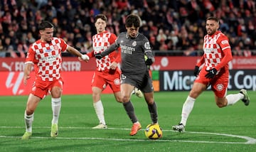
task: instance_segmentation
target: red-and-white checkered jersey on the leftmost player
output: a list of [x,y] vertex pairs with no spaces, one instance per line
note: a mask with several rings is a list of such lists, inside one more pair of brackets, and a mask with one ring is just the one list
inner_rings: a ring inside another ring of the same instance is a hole
[[37,79],[59,80],[61,78],[61,52],[67,48],[68,45],[62,38],[53,38],[50,43],[37,40],[28,48],[26,63],[34,64]]

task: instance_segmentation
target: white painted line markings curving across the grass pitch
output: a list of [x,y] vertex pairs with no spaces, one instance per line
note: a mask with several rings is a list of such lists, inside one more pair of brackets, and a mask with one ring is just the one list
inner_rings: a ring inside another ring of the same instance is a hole
[[[23,128],[21,126],[0,126],[0,128]],[[36,127],[33,128],[50,128],[47,126]],[[87,129],[87,127],[59,127],[60,129]],[[91,128],[88,128],[91,129]],[[110,130],[130,130],[130,129],[119,129],[119,128],[108,128]],[[163,130],[163,131],[171,131],[171,130]],[[174,132],[174,131],[172,131]],[[186,131],[189,134],[211,134],[211,135],[218,135],[218,136],[230,136],[236,137],[239,139],[245,139],[247,142],[224,142],[224,141],[183,141],[183,140],[156,140],[157,142],[185,142],[185,143],[231,143],[231,144],[255,144],[256,139],[251,138],[249,136],[239,136],[233,134],[219,134],[219,133],[210,133],[210,132],[196,132],[196,131]],[[0,138],[21,138],[21,136],[1,136]],[[50,139],[50,137],[39,137],[33,136],[33,139]],[[80,137],[80,138],[68,138],[68,137],[57,137],[56,139],[80,139],[80,140],[109,140],[109,141],[149,141],[148,139],[104,139],[104,138],[92,138],[92,137]]]

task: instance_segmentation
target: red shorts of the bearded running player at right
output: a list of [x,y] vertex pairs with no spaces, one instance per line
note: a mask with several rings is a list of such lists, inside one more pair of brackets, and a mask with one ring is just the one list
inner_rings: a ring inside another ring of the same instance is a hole
[[208,72],[206,71],[206,67],[203,67],[198,77],[196,77],[195,82],[203,83],[205,85],[210,85],[211,89],[213,90],[214,94],[217,97],[225,97],[228,90],[228,79],[229,79],[228,68],[223,67],[218,73],[218,75],[215,75],[213,79],[206,78],[205,75],[207,73]]

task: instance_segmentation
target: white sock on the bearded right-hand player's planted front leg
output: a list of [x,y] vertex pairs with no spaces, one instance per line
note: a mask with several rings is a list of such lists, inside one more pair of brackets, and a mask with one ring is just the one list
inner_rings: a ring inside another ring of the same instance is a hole
[[186,102],[184,102],[182,107],[182,114],[181,114],[181,124],[186,126],[186,121],[188,119],[189,114],[191,113],[193,109],[193,104],[195,103],[196,99],[193,99],[192,97],[187,97]]

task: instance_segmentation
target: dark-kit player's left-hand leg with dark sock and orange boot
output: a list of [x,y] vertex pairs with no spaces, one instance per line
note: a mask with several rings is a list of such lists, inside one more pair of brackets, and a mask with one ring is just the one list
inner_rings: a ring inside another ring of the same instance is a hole
[[129,119],[131,119],[133,123],[132,129],[130,132],[131,136],[134,136],[135,134],[137,134],[137,131],[139,131],[139,129],[142,129],[142,125],[139,123],[137,119],[137,116],[134,112],[134,106],[132,105],[132,102],[130,100],[131,92],[133,89],[134,89],[134,86],[129,85],[127,83],[124,83],[121,85],[121,94],[122,94],[124,109],[127,112]]

